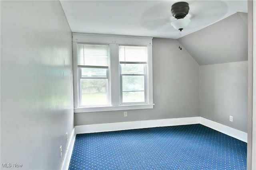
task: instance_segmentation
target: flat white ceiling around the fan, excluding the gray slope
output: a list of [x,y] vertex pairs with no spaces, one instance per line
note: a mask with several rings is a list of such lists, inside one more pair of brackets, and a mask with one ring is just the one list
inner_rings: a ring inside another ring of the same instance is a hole
[[[177,0],[61,0],[72,32],[178,38],[170,25]],[[236,12],[247,12],[247,0],[186,0],[191,22],[182,36]]]

